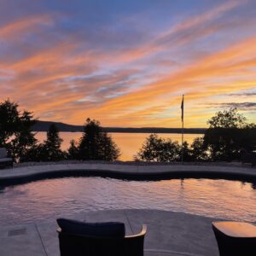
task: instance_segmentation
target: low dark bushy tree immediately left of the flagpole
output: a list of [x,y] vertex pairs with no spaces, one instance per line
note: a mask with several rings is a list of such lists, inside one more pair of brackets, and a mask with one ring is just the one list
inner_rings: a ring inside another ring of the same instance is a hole
[[156,134],[146,138],[143,147],[134,156],[135,160],[171,162],[180,159],[181,147],[171,139],[163,139]]

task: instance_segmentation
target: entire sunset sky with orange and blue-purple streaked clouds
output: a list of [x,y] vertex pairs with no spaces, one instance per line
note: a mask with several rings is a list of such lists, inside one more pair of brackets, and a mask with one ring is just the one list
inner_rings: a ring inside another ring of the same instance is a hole
[[0,102],[41,120],[256,123],[256,0],[0,0]]

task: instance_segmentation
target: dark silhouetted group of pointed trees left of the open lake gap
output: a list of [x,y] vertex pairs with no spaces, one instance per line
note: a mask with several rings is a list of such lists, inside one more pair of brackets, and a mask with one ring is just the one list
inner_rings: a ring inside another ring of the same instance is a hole
[[0,103],[0,148],[7,148],[16,162],[118,159],[118,146],[107,132],[102,131],[98,121],[86,119],[79,142],[71,141],[67,151],[63,151],[63,140],[55,125],[49,126],[46,140],[39,143],[32,131],[37,120],[30,112],[20,112],[18,107],[9,100]]

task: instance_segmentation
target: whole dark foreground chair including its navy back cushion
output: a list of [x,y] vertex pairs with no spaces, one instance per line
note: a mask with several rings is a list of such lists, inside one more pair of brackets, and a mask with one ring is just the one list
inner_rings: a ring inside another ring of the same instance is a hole
[[[79,222],[75,223],[79,225]],[[61,226],[59,222],[58,224]],[[114,225],[120,223],[80,224],[84,225],[84,230],[80,229],[78,232],[69,227],[65,229],[63,225],[62,230],[61,228],[57,230],[61,256],[143,256],[144,236],[147,231],[146,225],[143,225],[143,229],[139,234],[125,236],[125,230],[123,234],[120,230],[117,232],[112,231],[115,229]],[[89,232],[87,225],[89,225]],[[108,225],[108,230],[106,230],[106,225]],[[113,225],[113,229],[111,225]],[[125,227],[124,224],[122,225]],[[103,229],[101,228],[102,226]],[[96,232],[92,230],[93,227],[95,227]],[[101,229],[102,236],[100,234]],[[86,233],[89,233],[89,235],[86,235]],[[110,236],[108,236],[108,233]]]

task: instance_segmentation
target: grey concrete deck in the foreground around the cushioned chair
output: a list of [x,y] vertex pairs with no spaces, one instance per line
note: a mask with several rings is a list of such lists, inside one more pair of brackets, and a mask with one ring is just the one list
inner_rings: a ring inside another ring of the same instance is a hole
[[[145,256],[218,255],[217,242],[212,232],[212,221],[216,220],[213,218],[159,210],[84,212],[68,218],[87,222],[123,222],[127,235],[137,234],[142,224],[147,224]],[[56,229],[55,219],[44,223],[2,226],[0,255],[60,255]]]

